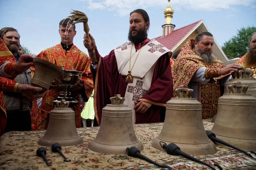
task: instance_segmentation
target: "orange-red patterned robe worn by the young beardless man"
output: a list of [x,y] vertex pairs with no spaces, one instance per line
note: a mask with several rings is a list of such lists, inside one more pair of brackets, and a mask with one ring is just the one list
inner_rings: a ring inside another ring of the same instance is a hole
[[[72,92],[72,94],[76,96],[76,99],[78,99],[78,103],[70,103],[69,105],[69,107],[75,111],[76,127],[81,127],[80,94],[82,94],[83,99],[87,101],[93,92],[93,76],[90,72],[91,62],[89,57],[84,54],[84,52],[80,51],[76,45],[72,45],[66,54],[66,51],[62,48],[61,44],[41,51],[37,57],[52,62],[61,68],[64,65],[66,70],[72,70],[72,67],[74,66],[76,71],[83,72],[82,80],[84,80],[84,86],[82,89]],[[39,108],[34,130],[47,129],[49,123],[49,113],[54,107],[52,101],[55,100],[58,95],[58,90],[56,88],[52,88],[44,96],[42,104]]]

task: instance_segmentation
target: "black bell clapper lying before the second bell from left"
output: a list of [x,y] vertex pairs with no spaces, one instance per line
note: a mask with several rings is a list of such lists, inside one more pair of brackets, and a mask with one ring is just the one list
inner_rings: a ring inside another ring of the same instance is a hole
[[160,164],[157,164],[156,162],[152,161],[151,159],[147,158],[146,156],[142,155],[140,153],[140,150],[137,149],[137,147],[127,147],[126,148],[126,151],[127,151],[127,155],[128,156],[132,156],[132,157],[135,157],[135,158],[140,158],[140,159],[143,159],[145,161],[148,161],[149,163],[151,164],[154,164],[154,165],[157,165],[157,167],[161,167],[161,168],[168,168],[168,170],[172,170],[171,167],[167,166],[167,165],[160,165]]

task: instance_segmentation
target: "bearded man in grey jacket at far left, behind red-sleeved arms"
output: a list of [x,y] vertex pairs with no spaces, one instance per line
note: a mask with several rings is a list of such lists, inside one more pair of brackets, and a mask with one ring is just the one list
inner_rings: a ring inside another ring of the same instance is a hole
[[[9,51],[11,51],[12,55],[15,57],[15,61],[17,62],[20,59],[20,53],[18,52],[20,45],[20,35],[18,34],[18,31],[11,27],[2,28],[0,30],[0,38],[5,42],[9,48]],[[0,67],[3,68],[7,64],[8,62],[4,62]],[[8,75],[3,71],[0,72],[0,76],[9,78]],[[31,85],[31,80],[32,77],[30,69],[22,71],[14,79],[15,82],[26,85]],[[32,99],[30,98],[31,100],[29,100],[29,97],[26,97],[24,94],[17,92],[3,92],[3,94],[7,115],[5,132],[13,130],[32,130],[30,116]]]

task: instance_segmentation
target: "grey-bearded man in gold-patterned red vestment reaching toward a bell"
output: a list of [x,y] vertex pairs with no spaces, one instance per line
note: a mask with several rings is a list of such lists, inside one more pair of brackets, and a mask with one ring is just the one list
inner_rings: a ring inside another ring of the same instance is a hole
[[186,42],[173,68],[174,89],[180,85],[188,85],[194,90],[192,97],[201,102],[203,119],[217,114],[218,98],[221,96],[220,85],[224,85],[231,78],[230,71],[241,67],[238,64],[226,66],[213,56],[213,44],[212,34],[201,32],[195,40]]

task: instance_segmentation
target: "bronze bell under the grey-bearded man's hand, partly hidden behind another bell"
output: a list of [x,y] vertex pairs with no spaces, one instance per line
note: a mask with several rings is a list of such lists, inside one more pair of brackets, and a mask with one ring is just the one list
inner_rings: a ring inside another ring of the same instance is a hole
[[225,83],[224,93],[229,93],[227,86],[232,85],[233,82],[241,82],[241,85],[247,85],[247,94],[253,95],[256,98],[256,79],[253,79],[253,70],[248,70],[248,68],[239,68],[238,71],[232,73],[233,79],[230,79]]

